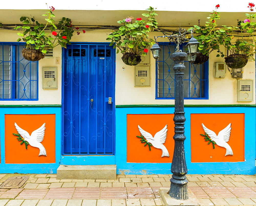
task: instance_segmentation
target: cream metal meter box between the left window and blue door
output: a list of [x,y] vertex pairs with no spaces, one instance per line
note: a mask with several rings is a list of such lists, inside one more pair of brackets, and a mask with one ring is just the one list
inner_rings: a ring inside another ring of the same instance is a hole
[[43,89],[57,89],[57,67],[42,67]]

